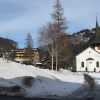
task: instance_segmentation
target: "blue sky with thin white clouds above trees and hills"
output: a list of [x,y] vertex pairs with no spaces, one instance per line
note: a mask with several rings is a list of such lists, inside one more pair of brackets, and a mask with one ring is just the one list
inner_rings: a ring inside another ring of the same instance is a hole
[[[56,0],[0,0],[0,37],[18,42],[25,47],[25,38],[32,35],[38,47],[38,30],[52,21],[51,13]],[[96,16],[100,23],[100,0],[60,0],[68,21],[68,34],[92,29]]]

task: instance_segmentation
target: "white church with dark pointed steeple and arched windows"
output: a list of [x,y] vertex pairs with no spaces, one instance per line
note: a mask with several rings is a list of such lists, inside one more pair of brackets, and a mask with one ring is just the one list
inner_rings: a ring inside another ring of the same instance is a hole
[[75,56],[73,71],[76,72],[100,72],[100,30],[96,20],[96,30],[92,46]]

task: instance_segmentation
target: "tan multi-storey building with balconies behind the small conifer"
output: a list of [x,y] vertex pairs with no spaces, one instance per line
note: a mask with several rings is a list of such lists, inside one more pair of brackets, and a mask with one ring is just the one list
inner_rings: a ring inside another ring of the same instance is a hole
[[[25,58],[25,50],[26,49],[11,50],[10,58],[17,62],[27,61],[28,59]],[[39,50],[37,48],[34,48],[33,51],[33,54],[31,53],[30,56],[33,57],[33,62],[37,63],[39,61]]]

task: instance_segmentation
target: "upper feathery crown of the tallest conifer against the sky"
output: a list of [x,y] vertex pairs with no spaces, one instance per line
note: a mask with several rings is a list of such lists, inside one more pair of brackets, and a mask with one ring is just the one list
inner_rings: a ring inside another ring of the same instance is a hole
[[56,0],[54,6],[54,11],[51,14],[53,20],[53,26],[55,30],[55,34],[57,36],[61,36],[65,33],[67,27],[66,17],[64,17],[64,9],[59,0]]

